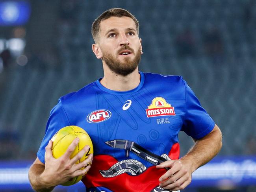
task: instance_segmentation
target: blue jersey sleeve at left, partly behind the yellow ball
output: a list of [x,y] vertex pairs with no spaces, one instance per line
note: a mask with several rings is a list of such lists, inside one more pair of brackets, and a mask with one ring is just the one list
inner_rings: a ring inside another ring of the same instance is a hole
[[45,163],[45,147],[53,135],[62,127],[69,126],[69,119],[62,106],[61,100],[50,112],[50,117],[46,124],[45,137],[43,138],[39,150],[37,152],[38,159]]

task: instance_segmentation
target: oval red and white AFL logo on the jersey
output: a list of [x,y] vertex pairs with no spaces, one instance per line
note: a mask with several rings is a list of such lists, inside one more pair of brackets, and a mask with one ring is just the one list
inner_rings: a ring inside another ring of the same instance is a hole
[[106,109],[99,109],[87,115],[87,122],[100,123],[108,120],[111,117],[111,112]]

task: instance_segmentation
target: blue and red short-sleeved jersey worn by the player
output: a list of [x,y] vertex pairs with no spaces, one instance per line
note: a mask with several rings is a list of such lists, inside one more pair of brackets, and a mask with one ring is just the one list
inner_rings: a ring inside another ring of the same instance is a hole
[[62,127],[82,127],[91,137],[94,158],[82,179],[87,191],[164,191],[157,164],[178,159],[178,133],[199,139],[214,122],[181,76],[139,72],[139,85],[129,91],[103,87],[100,79],[59,99],[47,122],[37,157]]

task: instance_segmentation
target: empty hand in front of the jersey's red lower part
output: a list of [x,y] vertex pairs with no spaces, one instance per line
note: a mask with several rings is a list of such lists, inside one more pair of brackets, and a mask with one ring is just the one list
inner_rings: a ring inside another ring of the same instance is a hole
[[171,191],[184,189],[191,182],[191,167],[192,162],[182,159],[162,162],[156,168],[169,168],[169,170],[159,178],[159,186]]

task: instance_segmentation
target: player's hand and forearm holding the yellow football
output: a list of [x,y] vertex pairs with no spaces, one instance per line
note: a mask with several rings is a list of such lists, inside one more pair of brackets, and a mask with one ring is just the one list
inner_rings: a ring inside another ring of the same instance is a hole
[[[28,172],[30,184],[35,191],[50,192],[55,186],[89,171],[90,166],[86,165],[92,161],[93,154],[90,154],[84,161],[75,164],[89,150],[89,146],[85,146],[72,159],[69,158],[78,142],[78,138],[74,139],[65,154],[55,159],[52,156],[52,141],[49,141],[45,148],[45,164],[37,158]],[[81,169],[83,167],[85,168]]]

